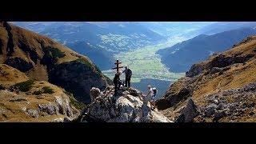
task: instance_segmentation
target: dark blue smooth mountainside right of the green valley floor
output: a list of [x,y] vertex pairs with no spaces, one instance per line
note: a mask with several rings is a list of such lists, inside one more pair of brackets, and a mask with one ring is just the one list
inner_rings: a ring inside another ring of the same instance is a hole
[[171,72],[186,72],[193,63],[206,60],[216,52],[222,52],[250,35],[256,34],[253,28],[240,28],[214,35],[201,34],[166,49],[158,50],[162,62]]

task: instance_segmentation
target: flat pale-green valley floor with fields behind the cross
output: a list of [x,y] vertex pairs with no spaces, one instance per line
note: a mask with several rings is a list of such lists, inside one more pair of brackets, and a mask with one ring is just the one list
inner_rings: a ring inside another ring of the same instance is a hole
[[[176,36],[158,45],[122,52],[115,55],[115,58],[122,62],[122,66],[129,66],[133,71],[131,82],[134,83],[138,89],[144,90],[146,85],[156,84],[158,89],[161,89],[160,94],[162,95],[163,91],[168,89],[171,82],[176,82],[178,78],[185,76],[185,73],[171,73],[171,70],[168,70],[166,66],[162,64],[161,58],[156,52],[160,49],[172,46],[177,42],[182,42],[185,39],[186,38]],[[102,71],[102,73],[113,79],[115,70],[105,70]],[[122,74],[121,79],[124,78],[124,74]],[[148,80],[150,80],[150,83],[145,84]],[[168,85],[166,85],[166,82],[168,82]],[[162,90],[162,87],[164,87],[165,90]]]

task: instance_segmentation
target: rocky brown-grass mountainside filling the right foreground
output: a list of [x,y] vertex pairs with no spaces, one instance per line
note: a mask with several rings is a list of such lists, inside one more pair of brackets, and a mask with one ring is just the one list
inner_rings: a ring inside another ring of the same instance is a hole
[[187,110],[181,111],[190,107],[190,98],[198,110],[193,122],[255,122],[255,82],[256,36],[251,36],[191,66],[186,77],[174,82],[156,104],[162,114],[176,122],[190,122],[185,121]]

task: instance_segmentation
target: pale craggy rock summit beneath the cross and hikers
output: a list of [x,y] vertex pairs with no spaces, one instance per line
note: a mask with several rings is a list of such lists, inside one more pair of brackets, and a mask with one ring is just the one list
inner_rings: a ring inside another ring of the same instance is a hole
[[93,99],[82,122],[171,122],[133,88],[119,90],[117,95],[108,88],[102,93],[96,88],[91,91]]

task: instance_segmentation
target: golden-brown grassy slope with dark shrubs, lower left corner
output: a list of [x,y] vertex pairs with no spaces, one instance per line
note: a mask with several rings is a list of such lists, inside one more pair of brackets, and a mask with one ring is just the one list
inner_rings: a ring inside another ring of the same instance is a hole
[[[56,118],[65,117],[62,114],[39,114],[38,118],[32,118],[24,111],[38,110],[39,104],[55,103],[56,97],[70,97],[65,90],[49,82],[31,81],[26,74],[3,64],[0,64],[0,74],[0,83],[5,87],[5,90],[0,91],[0,121],[51,122]],[[37,94],[38,91],[42,93]],[[77,107],[75,102],[77,101],[72,98],[71,105]]]

